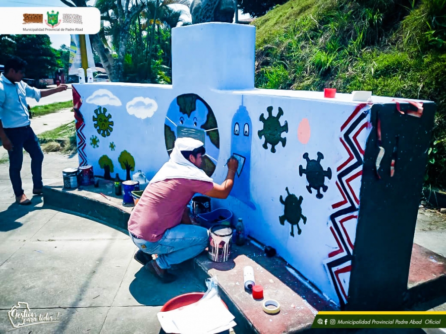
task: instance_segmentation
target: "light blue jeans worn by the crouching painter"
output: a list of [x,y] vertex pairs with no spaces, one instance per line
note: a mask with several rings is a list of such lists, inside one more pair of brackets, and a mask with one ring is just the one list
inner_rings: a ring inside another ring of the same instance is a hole
[[136,239],[130,233],[134,244],[145,253],[158,254],[157,264],[168,269],[200,254],[208,246],[208,230],[201,226],[179,224],[166,230],[163,237],[155,242]]

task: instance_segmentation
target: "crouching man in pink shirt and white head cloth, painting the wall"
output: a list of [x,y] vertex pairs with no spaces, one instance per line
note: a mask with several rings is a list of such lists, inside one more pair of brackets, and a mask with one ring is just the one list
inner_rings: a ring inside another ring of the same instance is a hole
[[[134,258],[164,283],[175,280],[167,269],[200,254],[208,245],[208,230],[191,225],[187,204],[199,192],[226,198],[234,184],[238,161],[229,159],[226,180],[219,185],[201,169],[203,143],[178,138],[170,159],[150,181],[128,221],[130,238],[139,250]],[[158,258],[152,260],[152,254]]]

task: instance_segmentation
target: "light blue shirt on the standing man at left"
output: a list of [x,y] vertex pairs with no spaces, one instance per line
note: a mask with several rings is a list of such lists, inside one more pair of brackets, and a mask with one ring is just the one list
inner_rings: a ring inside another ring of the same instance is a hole
[[0,75],[0,120],[3,128],[18,128],[30,125],[26,97],[40,100],[40,90],[24,83],[12,83]]

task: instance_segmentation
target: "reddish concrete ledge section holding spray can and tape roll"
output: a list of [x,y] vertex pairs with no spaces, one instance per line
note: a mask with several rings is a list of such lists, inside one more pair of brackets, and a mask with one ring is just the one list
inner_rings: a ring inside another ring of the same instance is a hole
[[[241,333],[246,333],[245,330],[261,334],[306,333],[318,311],[337,309],[305,279],[300,278],[300,281],[293,276],[292,272],[298,274],[287,267],[286,262],[277,256],[266,257],[263,247],[259,246],[256,241],[241,247],[232,245],[231,259],[223,263],[209,260],[206,254],[195,258],[202,269],[199,273],[218,277],[221,295],[227,297],[233,314],[243,315],[242,322],[237,322]],[[254,268],[256,284],[264,288],[264,299],[255,300],[251,291],[244,289],[245,266]],[[223,298],[225,302],[226,299]],[[263,311],[262,303],[267,299],[279,301],[278,314],[269,315]]]

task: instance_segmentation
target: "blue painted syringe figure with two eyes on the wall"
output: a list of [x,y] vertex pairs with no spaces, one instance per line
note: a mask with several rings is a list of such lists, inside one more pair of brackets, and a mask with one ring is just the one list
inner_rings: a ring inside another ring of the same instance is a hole
[[252,142],[252,122],[248,110],[243,105],[238,108],[232,117],[231,153],[238,160],[237,176],[231,196],[241,200],[249,207],[255,209],[251,201],[250,172],[251,172],[251,142]]

